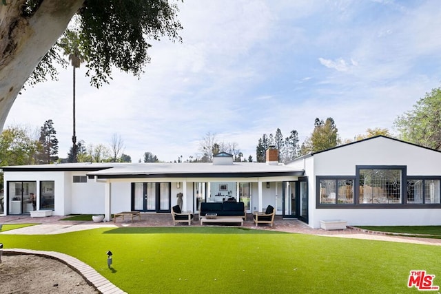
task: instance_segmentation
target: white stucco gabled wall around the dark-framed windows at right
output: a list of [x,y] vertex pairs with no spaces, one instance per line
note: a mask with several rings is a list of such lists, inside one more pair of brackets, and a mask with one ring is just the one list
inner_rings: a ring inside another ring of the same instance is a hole
[[[309,162],[309,160],[307,160]],[[441,209],[316,209],[316,176],[355,176],[356,165],[407,166],[408,176],[441,176],[441,153],[388,138],[374,138],[315,154],[309,176],[309,226],[320,220],[349,225],[440,225]]]

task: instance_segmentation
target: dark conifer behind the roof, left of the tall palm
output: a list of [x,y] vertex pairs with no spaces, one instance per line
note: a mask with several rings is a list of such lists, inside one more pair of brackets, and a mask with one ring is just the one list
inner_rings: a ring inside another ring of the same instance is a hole
[[57,131],[54,129],[52,119],[46,120],[40,130],[39,138],[39,164],[51,163],[58,160],[58,139],[55,136]]

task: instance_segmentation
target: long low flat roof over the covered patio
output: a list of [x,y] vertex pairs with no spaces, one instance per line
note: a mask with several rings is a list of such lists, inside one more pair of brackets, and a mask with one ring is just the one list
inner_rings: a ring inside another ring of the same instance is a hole
[[62,163],[57,165],[21,165],[3,171],[88,171],[90,178],[228,178],[258,176],[303,176],[304,171],[286,165],[260,162],[234,162],[213,165],[211,162],[154,163]]

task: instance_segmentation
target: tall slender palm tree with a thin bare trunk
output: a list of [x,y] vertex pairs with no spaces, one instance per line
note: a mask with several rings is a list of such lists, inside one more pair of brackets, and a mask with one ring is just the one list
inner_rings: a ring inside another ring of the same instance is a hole
[[75,132],[75,69],[79,68],[81,63],[86,61],[85,56],[80,52],[80,38],[78,32],[73,30],[66,30],[63,38],[60,40],[60,47],[63,49],[63,54],[68,55],[70,64],[73,69],[73,132],[72,132],[72,151],[71,160],[72,162],[77,161],[78,148],[76,145],[76,132]]

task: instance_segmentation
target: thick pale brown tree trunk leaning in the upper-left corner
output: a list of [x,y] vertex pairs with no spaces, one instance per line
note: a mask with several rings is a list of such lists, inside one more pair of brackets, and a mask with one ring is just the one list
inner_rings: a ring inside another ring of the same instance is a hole
[[32,16],[23,17],[25,1],[0,3],[0,131],[25,81],[84,2],[41,0]]

